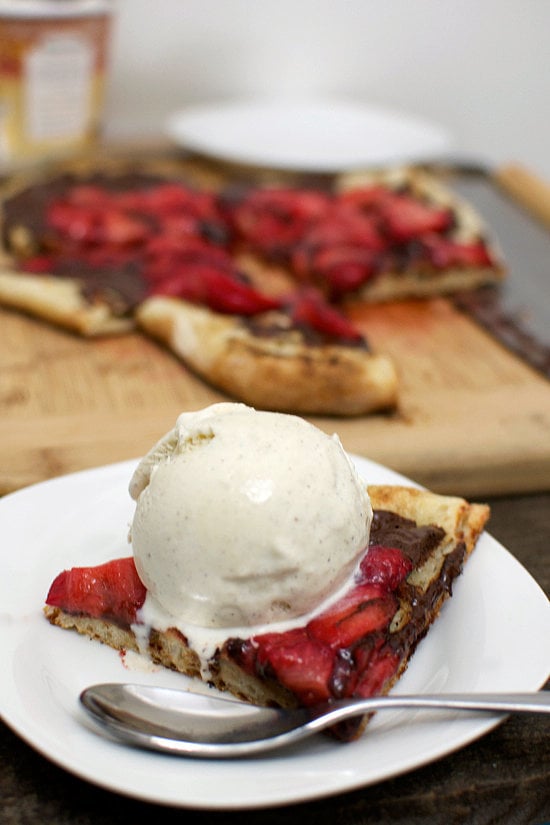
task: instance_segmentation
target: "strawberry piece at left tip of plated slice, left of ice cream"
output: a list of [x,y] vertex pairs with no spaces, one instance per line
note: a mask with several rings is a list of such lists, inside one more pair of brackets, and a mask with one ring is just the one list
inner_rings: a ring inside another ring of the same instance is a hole
[[130,556],[64,570],[52,582],[46,604],[127,627],[136,621],[146,592]]

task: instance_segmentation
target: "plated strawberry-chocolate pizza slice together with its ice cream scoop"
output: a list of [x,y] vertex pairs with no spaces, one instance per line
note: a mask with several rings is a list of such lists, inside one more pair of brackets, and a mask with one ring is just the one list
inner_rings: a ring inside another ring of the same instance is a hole
[[133,555],[61,572],[48,620],[281,706],[389,691],[489,515],[367,487],[337,438],[238,404],[180,416],[130,492]]

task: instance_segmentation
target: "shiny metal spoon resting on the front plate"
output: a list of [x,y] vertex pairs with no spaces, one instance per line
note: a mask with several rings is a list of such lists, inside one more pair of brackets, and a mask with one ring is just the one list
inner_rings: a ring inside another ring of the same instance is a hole
[[80,701],[104,730],[127,744],[212,758],[280,748],[345,719],[387,708],[550,713],[550,691],[390,695],[283,710],[184,690],[106,683],[84,690]]

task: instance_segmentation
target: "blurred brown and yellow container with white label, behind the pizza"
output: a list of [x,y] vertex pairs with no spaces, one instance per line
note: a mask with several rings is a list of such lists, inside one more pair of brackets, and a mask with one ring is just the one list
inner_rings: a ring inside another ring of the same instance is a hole
[[97,140],[111,18],[109,0],[0,0],[0,168]]

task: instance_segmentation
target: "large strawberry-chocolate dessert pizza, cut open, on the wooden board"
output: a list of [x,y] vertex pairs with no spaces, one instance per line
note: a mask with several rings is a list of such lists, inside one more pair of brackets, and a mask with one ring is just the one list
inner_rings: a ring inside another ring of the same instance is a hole
[[391,409],[398,370],[346,307],[504,275],[470,205],[417,169],[208,188],[160,162],[80,162],[2,194],[1,304],[83,336],[138,327],[265,409]]

